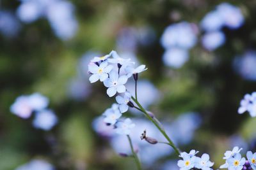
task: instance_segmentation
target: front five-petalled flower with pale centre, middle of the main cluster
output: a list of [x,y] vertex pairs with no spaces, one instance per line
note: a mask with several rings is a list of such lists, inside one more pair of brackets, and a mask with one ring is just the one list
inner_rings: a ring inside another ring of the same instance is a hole
[[126,88],[124,84],[127,82],[127,76],[119,76],[116,71],[111,71],[109,73],[109,78],[107,78],[103,83],[108,87],[107,94],[109,97],[115,96],[116,92],[124,93]]

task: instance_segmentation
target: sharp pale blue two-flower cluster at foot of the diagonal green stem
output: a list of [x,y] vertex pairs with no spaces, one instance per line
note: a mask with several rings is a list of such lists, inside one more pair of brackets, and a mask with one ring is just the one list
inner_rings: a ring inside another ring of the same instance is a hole
[[189,153],[182,152],[180,157],[183,160],[178,161],[178,166],[180,170],[189,170],[192,168],[202,169],[202,170],[211,170],[213,162],[210,161],[210,157],[207,153],[204,153],[202,157],[196,157],[198,151],[191,150]]

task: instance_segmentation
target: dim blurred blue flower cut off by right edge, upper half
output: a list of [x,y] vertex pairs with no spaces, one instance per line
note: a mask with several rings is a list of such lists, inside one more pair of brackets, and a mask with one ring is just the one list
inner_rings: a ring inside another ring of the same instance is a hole
[[234,69],[246,80],[256,81],[256,52],[245,52],[241,57],[234,59]]

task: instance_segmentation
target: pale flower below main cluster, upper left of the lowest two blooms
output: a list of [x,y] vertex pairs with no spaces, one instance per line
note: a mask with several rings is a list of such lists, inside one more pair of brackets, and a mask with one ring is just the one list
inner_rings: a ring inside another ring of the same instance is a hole
[[118,118],[122,116],[119,110],[113,110],[112,108],[106,110],[103,115],[105,116],[104,122],[108,125],[114,125]]

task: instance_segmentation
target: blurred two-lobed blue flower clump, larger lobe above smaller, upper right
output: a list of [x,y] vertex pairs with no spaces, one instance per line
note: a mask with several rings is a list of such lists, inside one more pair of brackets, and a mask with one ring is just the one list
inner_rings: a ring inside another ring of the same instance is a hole
[[170,67],[182,67],[189,59],[188,50],[195,46],[196,26],[188,22],[172,24],[164,30],[161,44],[166,49],[164,64]]

